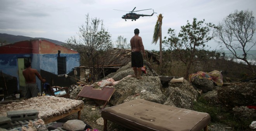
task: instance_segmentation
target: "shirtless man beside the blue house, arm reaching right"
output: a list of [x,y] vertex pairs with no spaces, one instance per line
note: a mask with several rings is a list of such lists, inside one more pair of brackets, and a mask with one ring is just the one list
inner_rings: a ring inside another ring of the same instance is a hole
[[24,69],[22,71],[22,74],[26,79],[25,99],[29,99],[31,97],[37,97],[38,88],[36,85],[36,76],[42,82],[45,82],[46,80],[41,77],[41,75],[38,73],[38,71],[36,69],[31,68],[31,62],[26,62],[25,67],[26,67],[26,69]]

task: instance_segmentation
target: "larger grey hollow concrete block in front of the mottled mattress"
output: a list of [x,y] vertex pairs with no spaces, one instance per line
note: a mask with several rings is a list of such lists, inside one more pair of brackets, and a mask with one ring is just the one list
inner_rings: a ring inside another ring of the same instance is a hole
[[31,110],[19,110],[19,111],[7,111],[7,117],[11,121],[22,121],[28,119],[38,119],[39,112],[35,109]]

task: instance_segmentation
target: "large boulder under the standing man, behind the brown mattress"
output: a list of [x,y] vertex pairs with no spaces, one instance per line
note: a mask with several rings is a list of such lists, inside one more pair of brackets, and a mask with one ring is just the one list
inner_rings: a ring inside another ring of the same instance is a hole
[[143,79],[125,77],[114,85],[115,92],[109,103],[118,105],[140,98],[163,104],[166,97],[160,89],[161,86],[161,81],[157,76],[143,76]]

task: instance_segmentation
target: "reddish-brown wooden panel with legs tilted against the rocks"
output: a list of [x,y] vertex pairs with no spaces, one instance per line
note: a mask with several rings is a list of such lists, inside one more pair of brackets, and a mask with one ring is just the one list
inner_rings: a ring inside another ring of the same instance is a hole
[[[104,109],[104,107],[107,105],[107,102],[109,102],[109,99],[111,98],[114,91],[115,89],[111,87],[94,89],[93,86],[84,86],[77,96],[106,101],[104,106],[102,107],[102,109]],[[78,99],[78,97],[76,99]]]

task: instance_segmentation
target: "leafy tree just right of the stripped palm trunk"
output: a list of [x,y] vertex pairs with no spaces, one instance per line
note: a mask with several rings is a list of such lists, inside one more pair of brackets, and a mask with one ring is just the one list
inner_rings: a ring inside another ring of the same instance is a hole
[[178,35],[174,29],[168,29],[169,38],[164,37],[163,43],[185,64],[185,79],[189,76],[193,62],[201,60],[204,55],[201,50],[205,50],[206,43],[213,39],[213,35],[210,35],[213,28],[214,24],[204,24],[204,20],[197,21],[194,18],[192,24],[187,21],[187,25],[181,27]]

